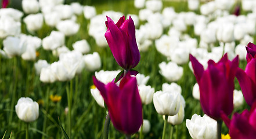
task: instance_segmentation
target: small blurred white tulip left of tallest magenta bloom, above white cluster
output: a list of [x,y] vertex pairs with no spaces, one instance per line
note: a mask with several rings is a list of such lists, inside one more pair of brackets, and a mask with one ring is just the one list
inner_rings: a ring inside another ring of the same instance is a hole
[[74,50],[77,50],[78,52],[81,52],[83,54],[88,53],[91,50],[89,43],[85,39],[82,39],[81,41],[77,41],[73,43],[72,46]]

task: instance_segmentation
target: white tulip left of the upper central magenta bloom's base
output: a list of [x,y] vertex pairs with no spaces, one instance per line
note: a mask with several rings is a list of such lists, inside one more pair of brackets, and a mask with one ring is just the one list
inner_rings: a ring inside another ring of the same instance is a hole
[[86,54],[84,57],[85,69],[88,71],[96,71],[102,67],[99,53],[93,52],[92,54]]

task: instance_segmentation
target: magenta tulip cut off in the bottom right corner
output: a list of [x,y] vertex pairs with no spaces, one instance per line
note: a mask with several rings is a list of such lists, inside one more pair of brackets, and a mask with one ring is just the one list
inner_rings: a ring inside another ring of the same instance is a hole
[[241,114],[235,113],[232,120],[226,115],[222,119],[229,128],[232,139],[254,139],[256,137],[256,105],[249,112],[247,109]]

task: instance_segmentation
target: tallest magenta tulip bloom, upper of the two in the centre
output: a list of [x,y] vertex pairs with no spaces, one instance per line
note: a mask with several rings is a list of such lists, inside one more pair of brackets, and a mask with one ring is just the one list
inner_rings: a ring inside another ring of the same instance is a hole
[[125,20],[122,16],[116,24],[107,17],[105,38],[117,64],[124,69],[138,65],[140,53],[135,38],[135,26],[131,16]]

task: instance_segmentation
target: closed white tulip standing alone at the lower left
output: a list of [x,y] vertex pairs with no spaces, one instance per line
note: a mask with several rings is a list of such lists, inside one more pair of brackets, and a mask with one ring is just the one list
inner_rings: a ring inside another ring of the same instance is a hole
[[29,97],[21,97],[15,105],[19,119],[24,122],[33,122],[39,116],[39,105]]

